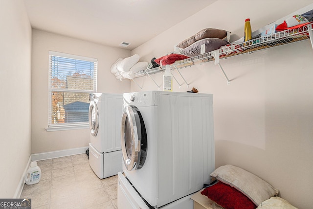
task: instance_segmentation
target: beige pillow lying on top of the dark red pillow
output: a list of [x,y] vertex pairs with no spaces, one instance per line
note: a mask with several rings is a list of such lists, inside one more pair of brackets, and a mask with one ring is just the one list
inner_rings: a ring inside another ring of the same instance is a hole
[[258,176],[232,165],[218,167],[210,176],[241,191],[257,206],[279,192]]

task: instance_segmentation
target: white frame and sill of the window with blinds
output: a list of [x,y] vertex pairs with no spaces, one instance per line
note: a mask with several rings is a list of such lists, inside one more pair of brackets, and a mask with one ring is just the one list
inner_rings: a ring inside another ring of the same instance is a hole
[[[82,60],[87,62],[93,62],[94,63],[94,71],[93,71],[93,90],[60,90],[52,88],[51,83],[51,57],[63,57],[68,59],[74,59],[74,60]],[[89,128],[89,122],[76,122],[76,123],[65,123],[65,124],[50,124],[49,114],[52,112],[52,92],[54,91],[60,91],[60,92],[81,92],[81,93],[96,93],[97,92],[97,63],[98,60],[95,58],[89,58],[89,57],[83,57],[78,55],[72,55],[62,52],[55,52],[55,51],[49,51],[48,56],[48,118],[47,118],[47,127],[45,128],[46,131],[60,131],[60,130],[71,130],[71,129],[83,129],[83,128]]]

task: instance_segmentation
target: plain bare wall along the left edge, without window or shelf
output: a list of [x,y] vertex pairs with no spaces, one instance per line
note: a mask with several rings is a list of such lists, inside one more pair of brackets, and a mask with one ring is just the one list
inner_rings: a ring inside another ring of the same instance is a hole
[[31,26],[22,0],[0,1],[0,198],[13,198],[30,157]]

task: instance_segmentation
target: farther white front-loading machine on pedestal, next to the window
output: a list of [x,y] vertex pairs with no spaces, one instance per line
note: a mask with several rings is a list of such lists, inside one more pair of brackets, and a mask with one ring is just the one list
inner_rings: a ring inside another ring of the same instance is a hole
[[89,104],[89,165],[100,178],[122,171],[122,94],[94,93]]

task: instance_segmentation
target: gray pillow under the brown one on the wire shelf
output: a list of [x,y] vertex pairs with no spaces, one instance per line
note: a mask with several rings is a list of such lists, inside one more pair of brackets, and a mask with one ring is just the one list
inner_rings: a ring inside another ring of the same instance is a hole
[[[204,44],[204,45],[203,45]],[[218,39],[218,38],[207,38],[202,39],[198,42],[194,42],[190,46],[182,49],[180,51],[181,54],[186,55],[188,57],[195,57],[201,54],[201,45],[203,45],[203,53],[208,53],[210,51],[214,51],[219,49],[221,46],[228,44],[228,42]]]

